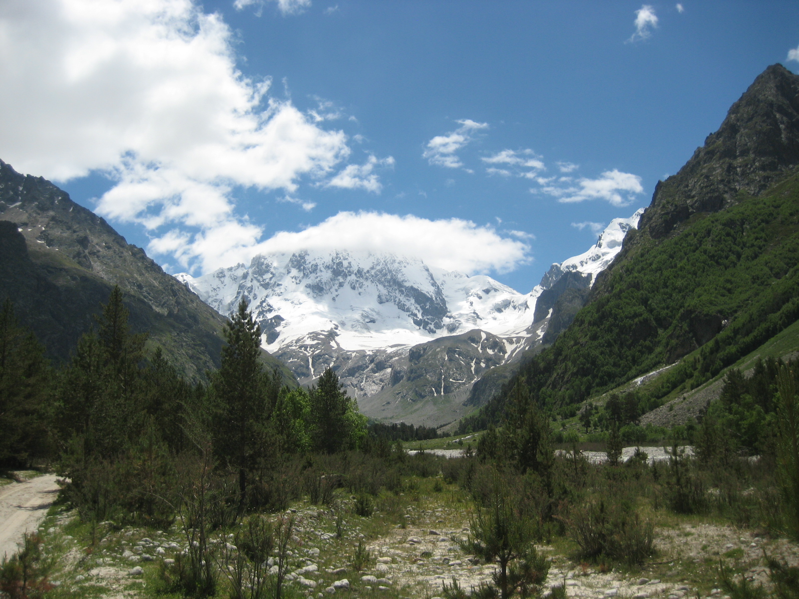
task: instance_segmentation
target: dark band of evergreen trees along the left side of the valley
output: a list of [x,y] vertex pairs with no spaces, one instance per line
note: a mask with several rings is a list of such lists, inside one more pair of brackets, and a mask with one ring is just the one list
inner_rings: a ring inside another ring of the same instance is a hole
[[217,468],[235,475],[240,511],[276,501],[272,478],[287,456],[363,444],[366,419],[335,372],[292,389],[264,370],[260,327],[244,300],[223,331],[221,367],[205,383],[189,383],[160,347],[148,351],[148,335],[131,331],[128,317],[115,287],[70,363],[56,368],[6,300],[0,467],[50,461],[70,479],[66,495],[79,509],[152,519],[167,517],[155,497],[169,495],[177,456],[196,454],[202,440]]

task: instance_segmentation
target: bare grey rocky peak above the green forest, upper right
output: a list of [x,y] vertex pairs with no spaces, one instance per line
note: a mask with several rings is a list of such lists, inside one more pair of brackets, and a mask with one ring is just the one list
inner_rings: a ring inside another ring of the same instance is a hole
[[799,165],[799,75],[771,65],[729,109],[716,133],[658,183],[638,229],[668,235],[696,212],[718,212],[739,192],[758,195]]

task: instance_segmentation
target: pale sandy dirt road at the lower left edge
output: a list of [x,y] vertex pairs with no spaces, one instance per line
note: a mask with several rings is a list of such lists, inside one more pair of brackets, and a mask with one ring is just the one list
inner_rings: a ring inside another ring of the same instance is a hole
[[17,550],[26,530],[34,530],[58,497],[54,474],[0,487],[0,558]]

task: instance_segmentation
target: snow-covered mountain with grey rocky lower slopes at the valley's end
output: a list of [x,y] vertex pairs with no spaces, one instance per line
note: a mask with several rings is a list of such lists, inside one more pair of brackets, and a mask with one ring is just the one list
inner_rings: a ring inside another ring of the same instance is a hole
[[613,220],[597,244],[553,264],[527,294],[417,258],[346,250],[260,255],[176,277],[225,315],[247,300],[262,346],[300,383],[333,367],[364,414],[440,424],[467,411],[481,375],[541,343],[565,280],[553,286],[569,272],[579,275],[568,277],[575,285],[593,284],[641,213]]

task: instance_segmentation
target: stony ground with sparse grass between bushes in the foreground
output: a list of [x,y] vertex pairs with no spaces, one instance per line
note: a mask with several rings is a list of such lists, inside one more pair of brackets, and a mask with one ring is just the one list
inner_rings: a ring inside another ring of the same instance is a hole
[[[435,479],[434,479],[435,480]],[[427,488],[429,486],[430,488]],[[340,496],[333,508],[300,502],[287,514],[296,518],[288,597],[442,596],[453,578],[467,591],[491,579],[495,565],[483,564],[459,549],[456,539],[468,533],[470,504],[455,487],[419,481],[419,489],[377,502],[376,513],[352,513],[352,498]],[[161,567],[169,568],[187,548],[180,530],[118,530],[112,523],[94,529],[56,507],[42,522],[44,551],[55,561],[51,580],[55,597],[157,597]],[[542,545],[551,556],[547,588],[566,585],[569,597],[723,597],[718,585],[722,559],[734,572],[767,580],[764,550],[792,565],[799,549],[753,531],[702,522],[663,518],[656,530],[658,552],[641,569],[608,569],[570,559],[567,541]],[[217,542],[227,542],[220,538]],[[371,558],[364,569],[352,568],[359,541]]]

